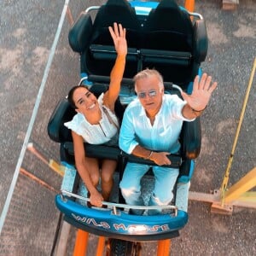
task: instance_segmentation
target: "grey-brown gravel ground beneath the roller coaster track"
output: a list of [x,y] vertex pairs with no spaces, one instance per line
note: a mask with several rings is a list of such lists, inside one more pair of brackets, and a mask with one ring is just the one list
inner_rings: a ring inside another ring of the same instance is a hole
[[[64,0],[4,0],[0,2],[0,210],[20,156],[26,130],[48,61]],[[182,1],[179,1],[182,3]],[[71,1],[73,16],[102,1]],[[196,161],[191,191],[218,189],[230,156],[253,60],[256,57],[256,1],[241,0],[235,11],[221,9],[222,1],[196,1],[195,11],[207,22],[209,49],[202,68],[218,81],[218,90],[201,117],[202,149]],[[46,125],[56,102],[79,80],[79,56],[68,47],[67,20],[61,32],[30,142],[48,158],[58,160],[58,148],[49,141]],[[248,99],[230,183],[256,166],[255,79]],[[54,156],[53,156],[54,155]],[[55,189],[61,177],[26,152],[22,167]],[[59,212],[55,192],[19,176],[0,238],[1,255],[49,255]],[[235,208],[231,216],[212,214],[210,205],[189,201],[189,224],[172,240],[172,255],[255,255],[256,211]],[[74,232],[67,254],[72,255]],[[36,237],[36,239],[35,239]],[[91,236],[94,255],[96,237]],[[156,243],[143,245],[144,255],[155,255]]]

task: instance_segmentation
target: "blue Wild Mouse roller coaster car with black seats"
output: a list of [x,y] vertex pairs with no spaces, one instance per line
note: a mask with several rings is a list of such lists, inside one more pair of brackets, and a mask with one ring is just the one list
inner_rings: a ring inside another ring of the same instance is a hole
[[[191,92],[192,81],[195,75],[201,74],[201,62],[205,61],[207,55],[207,31],[201,15],[189,13],[175,0],[162,0],[160,3],[108,0],[102,6],[90,7],[82,12],[68,36],[71,48],[80,55],[82,83],[90,85],[90,90],[96,95],[108,90],[109,74],[116,58],[113,40],[108,32],[108,26],[113,26],[113,22],[121,23],[126,28],[129,47],[119,101],[116,103],[119,119],[122,119],[125,106],[136,97],[132,86],[133,76],[146,67],[160,71],[165,80],[166,93],[180,96],[175,84]],[[163,214],[157,216],[136,216],[129,214],[128,210],[134,206],[125,205],[121,195],[117,195],[119,191],[113,193],[113,197],[116,197],[114,201],[118,203],[105,202],[107,209],[87,207],[86,189],[82,191],[83,185],[74,168],[71,133],[63,125],[74,114],[67,99],[62,99],[48,125],[49,137],[60,143],[61,163],[66,166],[61,194],[55,198],[56,206],[64,213],[65,220],[97,236],[125,241],[156,241],[178,236],[178,230],[188,221],[189,180],[194,171],[194,160],[201,149],[200,119],[183,122],[180,154],[170,156],[172,167],[180,170],[173,205],[167,206]],[[125,154],[119,148],[86,144],[85,150],[87,156],[118,160],[115,172],[117,184],[127,160],[154,164]],[[146,177],[154,180],[150,173]],[[147,193],[150,191],[145,192],[145,201]]]

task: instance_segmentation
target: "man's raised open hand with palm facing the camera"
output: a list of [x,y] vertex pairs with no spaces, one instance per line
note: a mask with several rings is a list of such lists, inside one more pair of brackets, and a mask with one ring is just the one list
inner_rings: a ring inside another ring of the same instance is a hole
[[211,84],[212,77],[208,76],[207,73],[202,75],[201,80],[199,79],[199,76],[195,77],[191,95],[182,92],[183,99],[195,111],[201,111],[207,107],[212,91],[217,87],[217,82]]

